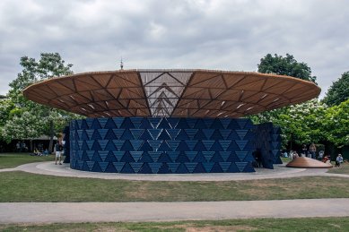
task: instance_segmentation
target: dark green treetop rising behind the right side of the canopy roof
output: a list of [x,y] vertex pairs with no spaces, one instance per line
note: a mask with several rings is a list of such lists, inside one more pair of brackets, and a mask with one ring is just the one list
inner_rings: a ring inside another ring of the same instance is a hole
[[316,82],[317,77],[311,75],[311,69],[308,64],[297,62],[290,54],[286,57],[275,54],[267,54],[260,59],[258,66],[259,73],[275,73],[278,75],[288,75],[302,80]]

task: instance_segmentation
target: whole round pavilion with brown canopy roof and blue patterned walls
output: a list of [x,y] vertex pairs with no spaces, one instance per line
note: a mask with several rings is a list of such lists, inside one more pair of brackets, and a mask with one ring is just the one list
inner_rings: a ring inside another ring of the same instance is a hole
[[251,172],[256,150],[273,168],[280,129],[246,116],[319,93],[289,76],[177,69],[78,73],[23,90],[27,99],[87,116],[65,136],[71,168],[150,174]]

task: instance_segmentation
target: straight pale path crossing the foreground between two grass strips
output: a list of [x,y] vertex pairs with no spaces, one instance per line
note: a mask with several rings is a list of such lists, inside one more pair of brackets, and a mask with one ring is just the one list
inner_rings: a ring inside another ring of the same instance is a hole
[[0,203],[0,223],[349,217],[349,199]]

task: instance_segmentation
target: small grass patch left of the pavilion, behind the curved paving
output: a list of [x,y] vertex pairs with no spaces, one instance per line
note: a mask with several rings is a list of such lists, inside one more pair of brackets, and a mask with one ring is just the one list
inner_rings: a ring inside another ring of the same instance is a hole
[[53,155],[31,156],[30,153],[0,153],[0,169],[49,160],[55,160],[55,157]]

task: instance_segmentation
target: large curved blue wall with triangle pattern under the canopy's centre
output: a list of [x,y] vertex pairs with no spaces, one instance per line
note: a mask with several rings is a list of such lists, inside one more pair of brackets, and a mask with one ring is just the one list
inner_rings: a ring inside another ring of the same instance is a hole
[[249,119],[113,117],[70,124],[71,168],[115,173],[254,172]]

